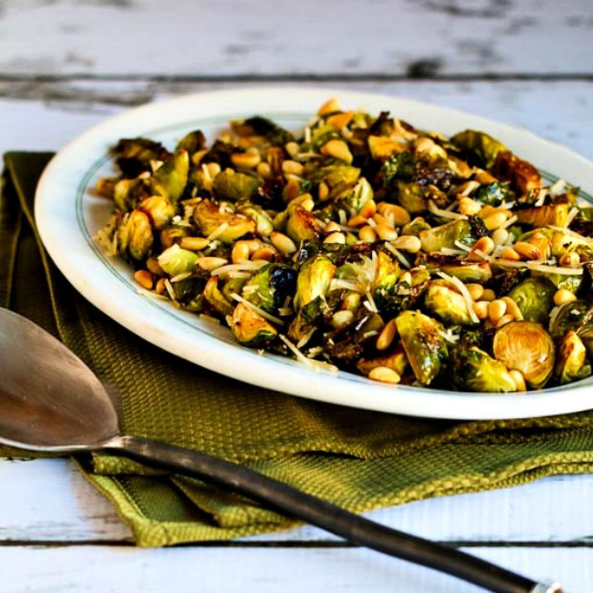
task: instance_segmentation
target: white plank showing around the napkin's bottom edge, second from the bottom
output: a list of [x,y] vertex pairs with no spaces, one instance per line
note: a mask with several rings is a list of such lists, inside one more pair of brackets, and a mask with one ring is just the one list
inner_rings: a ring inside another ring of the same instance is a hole
[[[127,528],[111,505],[66,460],[0,461],[0,542],[126,541]],[[43,496],[40,496],[43,492]],[[422,500],[367,516],[439,541],[589,541],[593,534],[593,476],[553,477],[533,484]],[[314,527],[246,538],[259,542],[327,542]]]

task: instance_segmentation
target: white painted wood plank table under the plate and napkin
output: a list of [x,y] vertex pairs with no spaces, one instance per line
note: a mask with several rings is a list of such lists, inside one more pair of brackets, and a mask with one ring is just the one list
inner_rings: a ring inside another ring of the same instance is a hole
[[[178,93],[325,84],[524,126],[593,158],[591,0],[4,0],[0,148],[58,149]],[[66,460],[0,460],[0,591],[477,591],[305,527],[139,550]],[[573,593],[593,586],[593,476],[370,517]]]

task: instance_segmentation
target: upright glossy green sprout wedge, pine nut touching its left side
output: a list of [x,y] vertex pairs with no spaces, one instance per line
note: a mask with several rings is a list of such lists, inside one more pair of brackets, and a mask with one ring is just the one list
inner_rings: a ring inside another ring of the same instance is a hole
[[419,311],[404,311],[396,317],[396,326],[416,380],[429,385],[448,354],[441,324]]

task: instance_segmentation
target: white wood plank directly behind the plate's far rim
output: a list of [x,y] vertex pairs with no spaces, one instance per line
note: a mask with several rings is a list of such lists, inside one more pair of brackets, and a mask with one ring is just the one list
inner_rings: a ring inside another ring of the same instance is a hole
[[[0,82],[0,149],[56,149],[124,107],[180,93],[244,87],[142,81]],[[593,158],[593,82],[340,82],[331,88],[400,95],[467,110],[525,127]]]

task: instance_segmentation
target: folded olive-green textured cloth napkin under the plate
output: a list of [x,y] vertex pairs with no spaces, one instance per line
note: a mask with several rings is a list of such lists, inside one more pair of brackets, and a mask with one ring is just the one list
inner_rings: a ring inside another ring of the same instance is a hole
[[[365,412],[251,387],[144,342],[78,295],[40,245],[34,190],[50,157],[4,157],[0,305],[59,336],[117,385],[126,433],[246,464],[355,512],[593,471],[593,412],[466,423]],[[298,524],[234,493],[126,460],[96,455],[78,463],[139,546]]]

